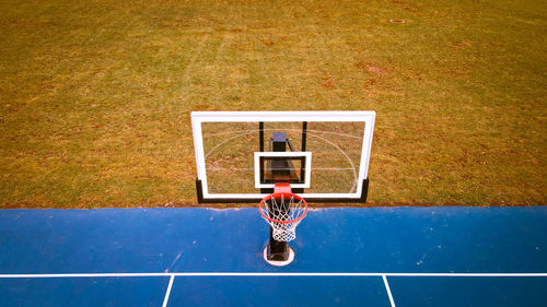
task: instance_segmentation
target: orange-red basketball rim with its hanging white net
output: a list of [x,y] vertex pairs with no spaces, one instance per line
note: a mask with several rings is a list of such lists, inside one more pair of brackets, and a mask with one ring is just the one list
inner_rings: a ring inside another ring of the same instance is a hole
[[296,226],[307,213],[307,202],[292,192],[275,192],[259,204],[260,214],[272,228],[274,239],[291,241],[296,238]]

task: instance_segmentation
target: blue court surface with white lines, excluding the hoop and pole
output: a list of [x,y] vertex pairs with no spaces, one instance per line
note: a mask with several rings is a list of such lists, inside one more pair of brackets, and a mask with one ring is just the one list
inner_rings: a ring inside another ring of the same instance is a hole
[[547,208],[0,211],[0,306],[547,306]]

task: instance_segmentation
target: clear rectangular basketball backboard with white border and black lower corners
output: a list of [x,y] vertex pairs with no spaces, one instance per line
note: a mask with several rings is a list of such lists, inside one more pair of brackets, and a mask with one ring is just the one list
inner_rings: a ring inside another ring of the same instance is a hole
[[374,111],[194,111],[198,201],[365,202]]

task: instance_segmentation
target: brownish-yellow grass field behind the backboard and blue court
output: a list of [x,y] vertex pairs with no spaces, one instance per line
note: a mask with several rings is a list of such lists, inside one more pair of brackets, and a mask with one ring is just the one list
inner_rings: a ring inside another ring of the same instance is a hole
[[3,208],[194,205],[191,110],[375,110],[371,204],[547,202],[544,1],[4,0],[0,32]]

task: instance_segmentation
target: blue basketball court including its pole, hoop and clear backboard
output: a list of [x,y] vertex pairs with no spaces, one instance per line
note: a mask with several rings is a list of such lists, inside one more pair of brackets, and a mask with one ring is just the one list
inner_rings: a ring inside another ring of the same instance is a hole
[[196,206],[0,212],[5,306],[545,305],[545,208],[354,205],[374,111],[191,119]]

